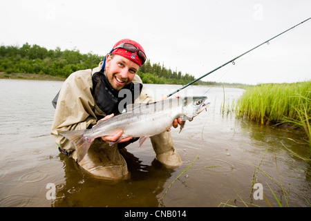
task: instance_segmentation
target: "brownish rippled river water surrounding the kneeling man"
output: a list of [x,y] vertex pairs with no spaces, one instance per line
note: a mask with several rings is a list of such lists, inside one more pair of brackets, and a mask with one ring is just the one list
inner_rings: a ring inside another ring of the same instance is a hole
[[[190,86],[180,92],[181,95],[207,92],[205,95],[211,102],[207,112],[187,122],[181,133],[179,128],[171,130],[182,166],[164,169],[155,160],[150,141],[142,148],[133,143],[126,147],[125,153],[131,173],[129,180],[96,179],[59,153],[50,136],[55,113],[51,101],[62,84],[62,81],[0,79],[1,207],[205,207],[224,206],[226,202],[225,206],[279,206],[272,191],[283,206],[287,205],[287,199],[289,206],[310,206],[310,163],[283,148],[284,144],[305,154],[308,144],[303,142],[303,135],[236,119],[232,114],[222,115],[224,91],[217,87]],[[180,88],[146,86],[159,97]],[[225,88],[225,104],[238,99],[243,91]],[[191,162],[194,164],[185,171]],[[251,193],[258,165],[261,170],[254,182],[261,185],[258,190],[262,192],[254,189]],[[283,185],[286,192],[276,183]],[[54,190],[55,199],[51,192]]]

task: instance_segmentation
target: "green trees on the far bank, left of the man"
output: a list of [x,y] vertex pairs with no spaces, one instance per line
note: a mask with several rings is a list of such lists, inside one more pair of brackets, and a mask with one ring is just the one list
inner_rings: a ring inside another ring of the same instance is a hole
[[95,68],[104,58],[79,50],[56,48],[47,50],[28,43],[19,46],[0,47],[0,71],[68,77],[77,70]]

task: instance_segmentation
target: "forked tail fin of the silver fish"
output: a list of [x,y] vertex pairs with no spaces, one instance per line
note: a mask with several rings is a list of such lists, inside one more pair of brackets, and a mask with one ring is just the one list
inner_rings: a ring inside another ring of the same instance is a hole
[[63,131],[59,134],[66,137],[75,145],[75,150],[77,151],[77,162],[80,162],[88,152],[88,148],[90,148],[93,140],[88,140],[84,137],[84,130]]

